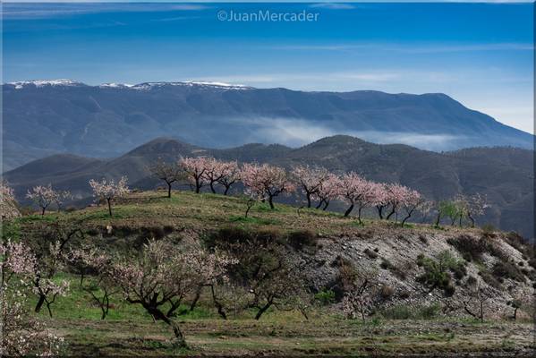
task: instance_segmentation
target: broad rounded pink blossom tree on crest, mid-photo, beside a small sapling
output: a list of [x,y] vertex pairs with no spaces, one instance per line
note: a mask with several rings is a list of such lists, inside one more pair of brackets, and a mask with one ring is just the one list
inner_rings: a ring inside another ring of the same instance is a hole
[[271,209],[275,208],[275,197],[296,190],[294,183],[288,180],[285,169],[279,166],[246,163],[242,166],[241,178],[249,191],[258,194],[262,200],[268,200]]

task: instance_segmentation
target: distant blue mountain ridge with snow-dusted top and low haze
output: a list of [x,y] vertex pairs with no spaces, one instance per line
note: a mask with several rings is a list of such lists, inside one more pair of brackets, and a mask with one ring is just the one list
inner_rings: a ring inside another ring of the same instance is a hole
[[218,82],[18,81],[2,85],[4,170],[53,153],[113,158],[153,138],[228,148],[299,147],[350,134],[421,149],[532,149],[532,134],[500,124],[445,94],[305,92]]

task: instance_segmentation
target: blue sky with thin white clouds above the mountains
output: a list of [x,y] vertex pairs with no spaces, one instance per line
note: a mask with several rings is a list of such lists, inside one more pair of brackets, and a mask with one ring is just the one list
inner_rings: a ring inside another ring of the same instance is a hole
[[[218,12],[318,13],[220,21]],[[444,92],[533,132],[533,4],[4,4],[3,81]]]

